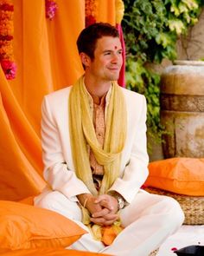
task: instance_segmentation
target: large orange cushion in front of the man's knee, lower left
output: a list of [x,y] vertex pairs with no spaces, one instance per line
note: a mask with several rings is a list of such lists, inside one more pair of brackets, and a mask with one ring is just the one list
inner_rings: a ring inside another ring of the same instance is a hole
[[84,233],[84,229],[59,213],[0,200],[1,249],[66,247]]

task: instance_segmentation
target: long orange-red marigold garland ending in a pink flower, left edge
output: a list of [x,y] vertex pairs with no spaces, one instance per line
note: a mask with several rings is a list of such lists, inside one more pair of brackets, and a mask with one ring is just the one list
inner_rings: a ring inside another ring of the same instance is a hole
[[8,80],[16,77],[13,55],[14,5],[11,0],[0,0],[0,62]]

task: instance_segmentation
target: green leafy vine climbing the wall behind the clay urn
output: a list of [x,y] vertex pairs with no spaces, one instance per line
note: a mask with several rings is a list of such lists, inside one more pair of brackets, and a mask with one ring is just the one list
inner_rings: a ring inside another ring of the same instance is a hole
[[176,58],[177,36],[198,21],[203,0],[124,0],[122,26],[126,43],[126,85],[147,98],[148,134],[161,141],[160,75],[147,63]]

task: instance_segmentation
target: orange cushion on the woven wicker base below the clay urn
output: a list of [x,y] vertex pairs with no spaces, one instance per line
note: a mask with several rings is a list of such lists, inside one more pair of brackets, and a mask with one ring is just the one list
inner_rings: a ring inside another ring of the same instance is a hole
[[204,196],[204,159],[170,158],[149,164],[145,186],[177,194]]

